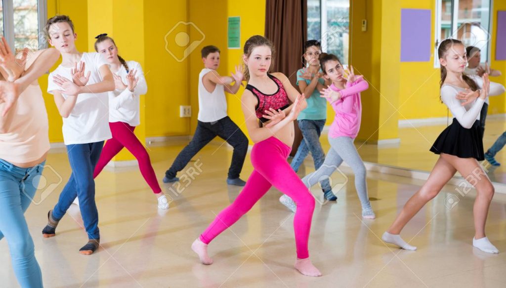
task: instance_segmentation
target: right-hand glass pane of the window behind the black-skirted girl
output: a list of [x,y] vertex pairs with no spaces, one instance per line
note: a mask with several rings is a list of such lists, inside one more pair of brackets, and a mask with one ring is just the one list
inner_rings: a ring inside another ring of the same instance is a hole
[[458,0],[457,31],[454,36],[466,46],[481,50],[481,62],[488,59],[490,0]]

